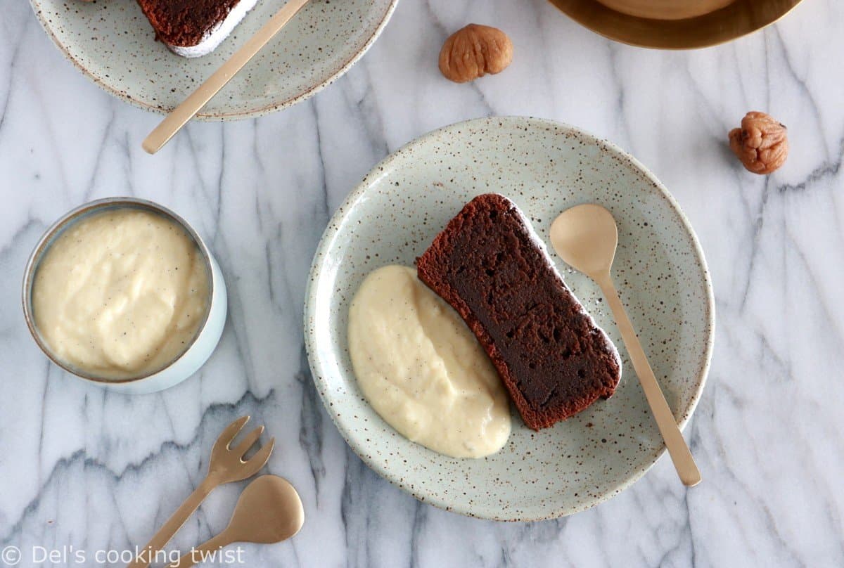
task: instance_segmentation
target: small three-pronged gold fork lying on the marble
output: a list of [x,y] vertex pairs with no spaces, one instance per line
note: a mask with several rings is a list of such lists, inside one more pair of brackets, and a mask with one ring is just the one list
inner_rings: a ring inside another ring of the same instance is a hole
[[187,517],[190,517],[193,511],[208,496],[214,488],[219,485],[231,483],[232,481],[240,481],[252,477],[259,469],[261,469],[269,455],[273,453],[273,446],[275,445],[275,438],[272,438],[266,446],[262,446],[254,456],[248,460],[243,457],[249,448],[257,442],[261,436],[264,427],[258,426],[249,434],[244,436],[240,444],[231,448],[231,442],[235,441],[235,436],[243,429],[246,422],[249,421],[249,416],[241,416],[230,425],[225,427],[222,434],[219,435],[217,441],[214,442],[214,449],[211,450],[211,461],[208,463],[208,475],[205,476],[202,483],[197,485],[197,489],[185,500],[181,506],[176,509],[164,526],[159,529],[158,533],[149,540],[143,549],[138,551],[135,560],[127,566],[127,568],[146,568],[154,558],[156,551],[163,549],[165,544],[170,542],[170,538],[176,534],[176,531],[185,524]]

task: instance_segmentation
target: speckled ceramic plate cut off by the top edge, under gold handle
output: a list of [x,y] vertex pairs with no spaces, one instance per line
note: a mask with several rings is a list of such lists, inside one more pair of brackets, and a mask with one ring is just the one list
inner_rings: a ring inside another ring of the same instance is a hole
[[[64,55],[103,89],[151,111],[170,111],[228,59],[284,0],[258,0],[210,55],[186,59],[155,41],[135,0],[30,0]],[[311,0],[205,106],[200,118],[260,116],[305,100],[356,62],[398,0]]]

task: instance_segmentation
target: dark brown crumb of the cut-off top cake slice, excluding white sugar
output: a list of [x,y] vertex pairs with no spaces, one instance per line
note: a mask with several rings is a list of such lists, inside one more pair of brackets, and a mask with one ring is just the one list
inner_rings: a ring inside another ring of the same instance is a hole
[[171,46],[196,46],[240,0],[138,0],[155,37]]

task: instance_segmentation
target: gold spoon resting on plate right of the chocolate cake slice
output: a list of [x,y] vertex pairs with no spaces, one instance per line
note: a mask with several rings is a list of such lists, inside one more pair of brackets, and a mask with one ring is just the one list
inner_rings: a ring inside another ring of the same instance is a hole
[[674,414],[659,388],[657,377],[653,375],[645,351],[641,349],[633,324],[627,317],[625,307],[621,304],[619,293],[609,275],[618,244],[619,230],[615,219],[600,205],[577,205],[565,210],[551,224],[551,245],[557,254],[601,287],[609,308],[613,311],[630,360],[633,361],[633,368],[639,376],[641,388],[645,391],[647,403],[651,405],[651,412],[657,420],[659,433],[663,435],[665,446],[668,447],[674,468],[677,469],[683,484],[696,485],[701,483],[701,472],[680,433]]

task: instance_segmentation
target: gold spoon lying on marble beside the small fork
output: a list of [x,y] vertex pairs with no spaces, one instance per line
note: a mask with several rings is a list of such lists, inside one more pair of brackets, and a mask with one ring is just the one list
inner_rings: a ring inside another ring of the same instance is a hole
[[203,560],[219,560],[214,551],[233,543],[273,544],[295,535],[305,523],[299,494],[287,479],[262,475],[241,493],[229,526],[184,554],[170,568],[187,568]]

